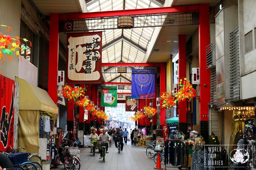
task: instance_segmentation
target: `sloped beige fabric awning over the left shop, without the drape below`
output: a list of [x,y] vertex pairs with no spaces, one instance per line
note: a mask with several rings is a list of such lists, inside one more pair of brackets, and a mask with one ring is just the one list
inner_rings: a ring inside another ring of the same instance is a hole
[[58,114],[58,107],[45,90],[24,79],[15,78],[15,81],[20,83],[19,110],[42,110]]

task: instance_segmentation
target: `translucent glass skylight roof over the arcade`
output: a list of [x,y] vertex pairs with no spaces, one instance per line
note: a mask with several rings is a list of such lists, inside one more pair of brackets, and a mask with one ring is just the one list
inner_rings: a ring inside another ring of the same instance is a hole
[[[86,2],[88,12],[163,7],[159,0],[87,0]],[[152,19],[150,16],[145,16],[145,20]],[[101,23],[94,23],[95,31],[97,26],[108,25],[105,23],[105,19],[102,21]],[[134,23],[138,23],[141,26],[145,25],[144,22],[143,20],[134,21]],[[145,57],[154,29],[154,27],[145,27],[102,32],[102,63],[141,63]],[[107,81],[114,80],[119,76],[131,80],[131,73],[105,73],[105,76]]]

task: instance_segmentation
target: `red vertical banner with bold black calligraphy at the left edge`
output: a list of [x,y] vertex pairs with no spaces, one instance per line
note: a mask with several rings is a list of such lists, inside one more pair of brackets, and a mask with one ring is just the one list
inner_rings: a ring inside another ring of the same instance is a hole
[[0,87],[0,150],[6,151],[9,146],[13,148],[15,81],[1,76]]

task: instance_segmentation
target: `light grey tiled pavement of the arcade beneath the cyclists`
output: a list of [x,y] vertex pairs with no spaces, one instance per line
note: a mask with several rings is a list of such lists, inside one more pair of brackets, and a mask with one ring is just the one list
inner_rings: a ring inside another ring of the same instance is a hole
[[[100,154],[95,153],[95,156],[90,153],[90,148],[79,148],[81,170],[153,170],[156,163],[153,158],[149,159],[146,155],[144,146],[131,146],[131,142],[124,144],[123,152],[119,154],[117,148],[113,145],[108,147],[108,152],[105,157],[105,163],[99,159]],[[98,150],[96,150],[98,151]],[[164,162],[161,163],[164,168]],[[56,169],[64,169],[61,164]],[[167,170],[178,170],[178,168],[167,168]]]

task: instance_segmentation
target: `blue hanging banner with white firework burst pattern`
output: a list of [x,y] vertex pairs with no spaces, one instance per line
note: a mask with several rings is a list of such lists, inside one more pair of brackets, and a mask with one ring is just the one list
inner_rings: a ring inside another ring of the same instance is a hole
[[132,99],[155,99],[155,69],[132,69]]

